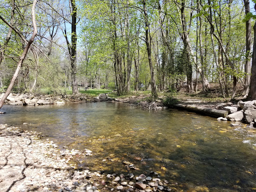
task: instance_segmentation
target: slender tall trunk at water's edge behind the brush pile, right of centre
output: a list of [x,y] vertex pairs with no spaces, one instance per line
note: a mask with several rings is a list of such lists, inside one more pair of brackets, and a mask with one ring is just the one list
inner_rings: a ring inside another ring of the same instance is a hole
[[151,38],[149,37],[149,24],[148,24],[148,15],[146,10],[145,0],[142,0],[142,3],[143,3],[143,13],[144,13],[144,21],[145,21],[145,43],[146,43],[146,51],[147,51],[148,63],[150,68],[150,76],[151,76],[151,81],[150,81],[151,93],[152,93],[152,97],[156,98],[157,97],[156,83],[154,78],[154,68],[153,68],[152,59],[151,59]]

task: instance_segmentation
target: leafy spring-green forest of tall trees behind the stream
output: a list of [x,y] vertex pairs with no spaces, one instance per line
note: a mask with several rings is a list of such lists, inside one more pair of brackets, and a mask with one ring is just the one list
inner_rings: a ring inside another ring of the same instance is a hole
[[234,98],[239,85],[254,99],[253,2],[0,0],[0,88],[6,97],[12,87],[89,87],[156,98],[183,86],[206,92],[213,82],[222,97]]

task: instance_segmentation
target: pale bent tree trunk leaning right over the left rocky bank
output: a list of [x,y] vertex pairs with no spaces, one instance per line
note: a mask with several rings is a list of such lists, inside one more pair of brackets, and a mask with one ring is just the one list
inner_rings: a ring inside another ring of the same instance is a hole
[[13,86],[13,84],[14,84],[17,76],[18,76],[18,72],[19,72],[19,70],[21,68],[23,60],[24,60],[24,58],[25,58],[25,56],[26,56],[26,54],[28,52],[28,49],[29,49],[30,45],[32,44],[32,42],[34,40],[35,35],[37,34],[37,27],[36,27],[36,21],[35,21],[35,12],[34,12],[36,2],[37,2],[37,0],[33,0],[33,5],[32,5],[32,9],[31,9],[32,23],[33,23],[33,33],[31,35],[29,41],[27,42],[27,44],[26,44],[26,46],[25,46],[25,48],[23,50],[23,53],[21,54],[21,56],[19,58],[19,61],[18,61],[18,64],[17,64],[17,68],[16,68],[16,70],[15,70],[15,72],[14,72],[14,74],[13,74],[11,80],[10,80],[9,86],[8,86],[6,92],[4,93],[4,95],[2,96],[2,99],[0,100],[0,108],[2,107],[2,105],[3,105],[4,101],[5,101],[5,99],[7,98],[7,96],[9,95],[9,93],[11,91],[11,88],[12,88],[12,86]]

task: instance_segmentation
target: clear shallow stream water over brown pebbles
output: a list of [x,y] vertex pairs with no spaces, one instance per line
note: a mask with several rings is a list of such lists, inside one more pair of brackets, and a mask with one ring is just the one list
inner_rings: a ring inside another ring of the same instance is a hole
[[[60,147],[92,150],[77,166],[105,172],[155,171],[179,190],[256,190],[256,129],[175,109],[143,110],[123,103],[4,105],[0,123],[46,135]],[[22,125],[24,122],[28,125]],[[126,170],[122,161],[140,170]]]

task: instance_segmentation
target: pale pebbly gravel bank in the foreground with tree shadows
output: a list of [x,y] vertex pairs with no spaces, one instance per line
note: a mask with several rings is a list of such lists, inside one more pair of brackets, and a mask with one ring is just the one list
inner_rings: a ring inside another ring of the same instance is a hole
[[[77,169],[76,155],[93,155],[89,149],[60,149],[56,143],[41,140],[40,133],[21,131],[0,124],[0,191],[183,191],[181,183],[164,180],[156,172],[135,175]],[[124,166],[132,163],[123,161]],[[93,168],[93,167],[91,167]],[[208,191],[195,186],[189,191]]]

